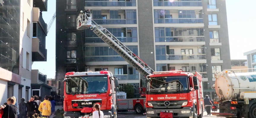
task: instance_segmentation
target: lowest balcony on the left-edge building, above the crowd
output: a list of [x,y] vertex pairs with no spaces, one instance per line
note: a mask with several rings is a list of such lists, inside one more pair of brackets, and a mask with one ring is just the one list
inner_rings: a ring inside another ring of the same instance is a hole
[[31,83],[46,83],[47,76],[38,70],[31,70]]

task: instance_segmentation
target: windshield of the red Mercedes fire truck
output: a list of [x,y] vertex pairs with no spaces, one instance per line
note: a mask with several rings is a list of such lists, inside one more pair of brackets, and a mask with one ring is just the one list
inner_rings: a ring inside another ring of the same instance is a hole
[[151,78],[147,84],[148,94],[166,94],[166,92],[186,93],[188,92],[188,77],[168,76]]

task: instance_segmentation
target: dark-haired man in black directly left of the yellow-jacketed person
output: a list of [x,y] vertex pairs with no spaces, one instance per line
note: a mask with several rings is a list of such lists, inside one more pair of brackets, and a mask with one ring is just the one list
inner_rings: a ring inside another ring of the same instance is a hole
[[36,110],[38,109],[38,104],[34,100],[34,96],[31,96],[30,100],[27,101],[27,111],[28,111],[28,118],[34,118]]

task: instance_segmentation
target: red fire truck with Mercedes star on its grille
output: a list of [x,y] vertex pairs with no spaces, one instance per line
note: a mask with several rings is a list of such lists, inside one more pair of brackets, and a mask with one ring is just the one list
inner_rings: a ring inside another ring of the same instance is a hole
[[[202,76],[183,71],[153,72],[147,76],[147,118],[203,117]],[[162,113],[161,113],[162,112]]]

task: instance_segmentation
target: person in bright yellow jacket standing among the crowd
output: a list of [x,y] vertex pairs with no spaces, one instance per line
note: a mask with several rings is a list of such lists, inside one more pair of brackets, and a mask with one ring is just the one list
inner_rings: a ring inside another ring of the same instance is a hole
[[42,112],[42,117],[46,117],[49,118],[51,115],[51,111],[52,111],[52,106],[51,106],[51,102],[49,101],[49,96],[44,96],[44,101],[41,102],[41,104],[39,105],[38,110],[40,112]]

